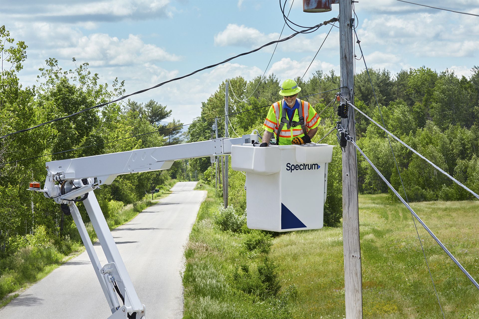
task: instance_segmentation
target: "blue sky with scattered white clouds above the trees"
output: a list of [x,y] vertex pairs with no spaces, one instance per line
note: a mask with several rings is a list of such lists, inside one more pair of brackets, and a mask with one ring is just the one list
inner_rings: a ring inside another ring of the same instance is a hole
[[[477,0],[416,2],[479,14]],[[288,1],[286,8],[290,6]],[[424,65],[468,77],[470,69],[479,66],[479,17],[395,0],[360,0],[355,11],[370,68],[394,74]],[[305,13],[302,1],[295,0],[290,19],[315,25],[337,15],[338,5],[331,12]],[[70,69],[75,57],[77,63],[90,63],[103,82],[125,80],[127,93],[277,40],[284,25],[276,0],[0,0],[0,21],[11,36],[28,45],[20,73],[24,86],[35,84],[47,58],[55,57]],[[266,74],[281,80],[302,76],[329,29],[321,27],[279,44]],[[339,73],[338,30],[331,31],[307,77],[317,69]],[[283,36],[291,33],[286,26]],[[262,75],[272,52],[273,46],[264,48],[135,99],[155,99],[173,110],[175,119],[189,123],[221,81]],[[358,61],[356,71],[362,69]]]

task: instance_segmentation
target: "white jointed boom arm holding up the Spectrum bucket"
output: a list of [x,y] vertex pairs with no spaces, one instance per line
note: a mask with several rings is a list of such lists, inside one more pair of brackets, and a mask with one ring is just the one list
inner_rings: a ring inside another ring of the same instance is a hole
[[[46,163],[45,185],[40,191],[44,192],[45,197],[62,204],[62,210],[66,214],[71,213],[112,311],[109,319],[145,319],[146,309],[138,299],[93,190],[100,185],[111,184],[118,175],[169,169],[173,162],[179,159],[211,156],[213,161],[216,155],[230,154],[231,146],[234,144],[251,143],[257,140],[257,135],[251,134],[239,138],[218,138],[211,141],[150,147]],[[75,199],[79,197],[82,198]],[[102,245],[108,261],[103,266],[93,249],[75,204],[76,201],[83,201]],[[117,296],[122,299],[123,306],[120,306]]]

